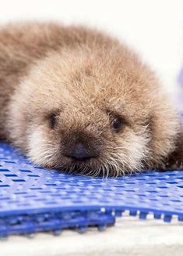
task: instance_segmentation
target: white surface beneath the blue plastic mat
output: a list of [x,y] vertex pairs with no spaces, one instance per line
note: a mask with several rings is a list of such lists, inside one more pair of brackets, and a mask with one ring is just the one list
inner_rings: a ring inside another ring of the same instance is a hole
[[141,221],[122,217],[104,232],[89,229],[87,233],[64,231],[61,236],[40,233],[33,239],[11,236],[0,242],[1,256],[182,256],[183,223],[164,223],[149,217]]

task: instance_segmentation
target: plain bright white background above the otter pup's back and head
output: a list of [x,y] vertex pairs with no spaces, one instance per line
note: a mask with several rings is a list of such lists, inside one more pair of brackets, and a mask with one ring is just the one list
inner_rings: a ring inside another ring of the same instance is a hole
[[0,0],[0,23],[14,20],[60,20],[109,31],[175,88],[183,63],[183,0]]

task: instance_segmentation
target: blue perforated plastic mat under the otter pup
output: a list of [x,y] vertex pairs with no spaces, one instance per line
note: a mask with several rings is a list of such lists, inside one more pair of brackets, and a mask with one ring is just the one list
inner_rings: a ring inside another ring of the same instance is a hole
[[125,178],[90,178],[33,167],[0,144],[0,236],[76,228],[104,229],[116,216],[153,213],[183,221],[183,172],[147,172]]

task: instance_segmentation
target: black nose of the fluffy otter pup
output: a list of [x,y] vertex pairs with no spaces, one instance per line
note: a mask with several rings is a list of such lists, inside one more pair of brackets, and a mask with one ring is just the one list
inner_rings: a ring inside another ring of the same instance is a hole
[[73,150],[65,154],[65,157],[71,157],[76,160],[84,160],[95,156],[93,153],[90,153],[88,150],[86,150],[82,143],[78,143]]

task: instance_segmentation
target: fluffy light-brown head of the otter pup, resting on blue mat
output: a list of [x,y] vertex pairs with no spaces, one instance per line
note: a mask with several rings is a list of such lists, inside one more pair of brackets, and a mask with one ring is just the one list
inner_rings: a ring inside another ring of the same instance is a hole
[[48,168],[107,176],[152,168],[173,150],[177,133],[166,97],[130,52],[52,52],[12,97],[10,135]]

